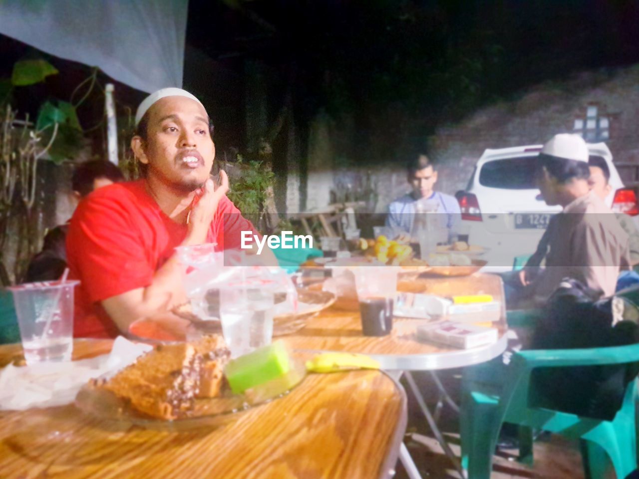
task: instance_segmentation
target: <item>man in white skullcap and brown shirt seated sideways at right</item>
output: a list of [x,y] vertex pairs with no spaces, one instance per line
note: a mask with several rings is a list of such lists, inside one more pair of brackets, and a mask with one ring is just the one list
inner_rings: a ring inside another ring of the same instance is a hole
[[[628,236],[588,179],[589,152],[578,135],[562,133],[544,144],[537,163],[537,185],[548,205],[563,211],[544,234],[545,268],[525,268],[510,302],[539,305],[573,278],[602,296],[615,293],[620,269],[629,268]],[[512,287],[512,281],[506,284]]]

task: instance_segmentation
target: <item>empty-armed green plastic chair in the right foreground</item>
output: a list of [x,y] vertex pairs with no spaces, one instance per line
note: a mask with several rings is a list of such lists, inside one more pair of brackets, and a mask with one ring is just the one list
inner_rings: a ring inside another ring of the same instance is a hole
[[[488,479],[502,423],[520,425],[520,460],[532,464],[532,428],[581,439],[587,478],[603,478],[610,458],[618,478],[637,467],[636,381],[626,388],[620,410],[612,421],[597,420],[542,407],[528,406],[532,370],[539,367],[576,367],[639,361],[639,344],[597,349],[521,351],[512,356],[502,386],[468,379],[465,372],[461,407],[462,465],[470,479]],[[478,367],[481,367],[479,365]],[[500,390],[499,390],[500,389]]]

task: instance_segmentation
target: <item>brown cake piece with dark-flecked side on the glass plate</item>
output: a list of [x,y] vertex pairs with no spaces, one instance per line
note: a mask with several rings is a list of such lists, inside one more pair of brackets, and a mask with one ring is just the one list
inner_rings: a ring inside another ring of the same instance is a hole
[[91,385],[126,400],[141,413],[172,420],[191,409],[196,398],[220,395],[230,357],[220,335],[160,344],[111,379],[92,379]]

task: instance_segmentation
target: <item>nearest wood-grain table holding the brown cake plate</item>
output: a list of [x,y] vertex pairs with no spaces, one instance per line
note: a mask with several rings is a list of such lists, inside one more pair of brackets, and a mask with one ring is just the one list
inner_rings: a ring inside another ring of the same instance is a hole
[[[111,341],[77,340],[74,357],[110,348]],[[20,349],[0,346],[0,365]],[[405,427],[403,388],[371,370],[311,375],[217,429],[115,426],[74,406],[0,411],[0,477],[390,477]]]

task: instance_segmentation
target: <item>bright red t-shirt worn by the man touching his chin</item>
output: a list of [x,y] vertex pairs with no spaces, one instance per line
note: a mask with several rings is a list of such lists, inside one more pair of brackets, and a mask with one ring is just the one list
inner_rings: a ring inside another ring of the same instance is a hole
[[[73,213],[66,237],[69,277],[75,288],[75,337],[116,337],[118,327],[99,301],[146,287],[187,235],[162,212],[144,180],[95,190]],[[222,197],[206,241],[217,249],[239,248],[241,231],[254,231],[249,220]]]

